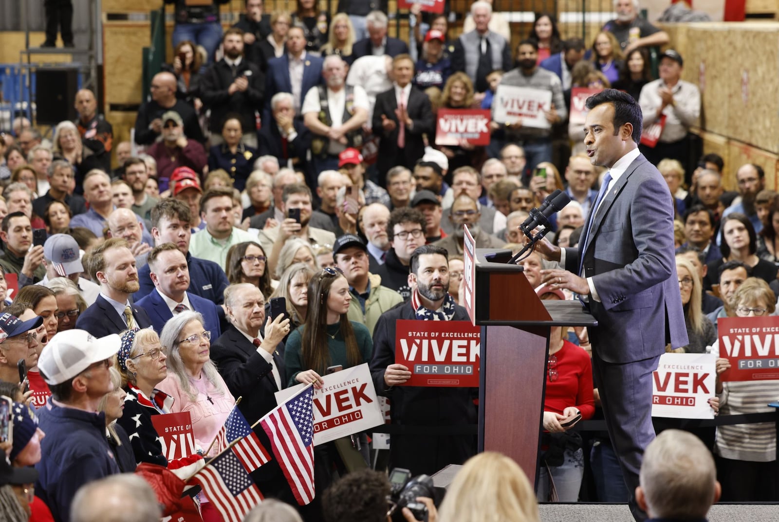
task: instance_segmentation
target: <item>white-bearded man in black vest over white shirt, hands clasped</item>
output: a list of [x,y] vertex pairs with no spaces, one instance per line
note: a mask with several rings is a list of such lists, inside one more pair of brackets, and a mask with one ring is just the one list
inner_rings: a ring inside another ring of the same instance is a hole
[[346,63],[337,55],[325,58],[326,86],[314,86],[301,113],[312,132],[314,173],[338,169],[338,155],[347,147],[362,147],[362,125],[368,121],[368,96],[361,86],[347,86]]

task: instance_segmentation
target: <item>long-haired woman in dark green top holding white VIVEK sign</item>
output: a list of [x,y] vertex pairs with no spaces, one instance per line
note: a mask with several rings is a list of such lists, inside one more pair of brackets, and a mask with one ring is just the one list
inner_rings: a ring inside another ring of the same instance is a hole
[[[303,383],[320,388],[321,376],[328,368],[340,366],[337,370],[341,370],[371,360],[373,343],[368,328],[347,317],[351,300],[349,283],[337,268],[325,268],[308,282],[305,324],[291,333],[284,352],[289,386]],[[362,442],[367,453],[364,437]],[[314,473],[317,492],[323,492],[332,482],[333,465],[342,474],[347,471],[336,444],[317,447]]]

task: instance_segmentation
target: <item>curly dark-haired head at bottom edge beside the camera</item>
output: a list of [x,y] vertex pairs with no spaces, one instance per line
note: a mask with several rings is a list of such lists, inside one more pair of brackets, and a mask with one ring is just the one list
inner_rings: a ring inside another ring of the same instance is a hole
[[372,469],[353,471],[326,489],[322,510],[326,522],[384,522],[390,481]]

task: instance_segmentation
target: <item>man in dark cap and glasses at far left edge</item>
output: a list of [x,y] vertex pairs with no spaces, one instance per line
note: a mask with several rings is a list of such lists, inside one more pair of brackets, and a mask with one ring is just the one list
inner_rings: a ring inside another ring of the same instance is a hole
[[22,321],[7,312],[0,314],[0,331],[5,337],[0,339],[0,380],[9,383],[19,382],[19,370],[16,364],[24,359],[27,368],[38,363],[36,329],[44,322],[43,317],[33,317]]

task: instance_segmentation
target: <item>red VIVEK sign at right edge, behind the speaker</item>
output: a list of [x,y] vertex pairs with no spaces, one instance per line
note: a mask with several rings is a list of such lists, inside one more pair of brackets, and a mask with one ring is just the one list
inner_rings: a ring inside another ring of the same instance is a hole
[[720,357],[731,363],[722,382],[779,380],[779,317],[721,317]]

